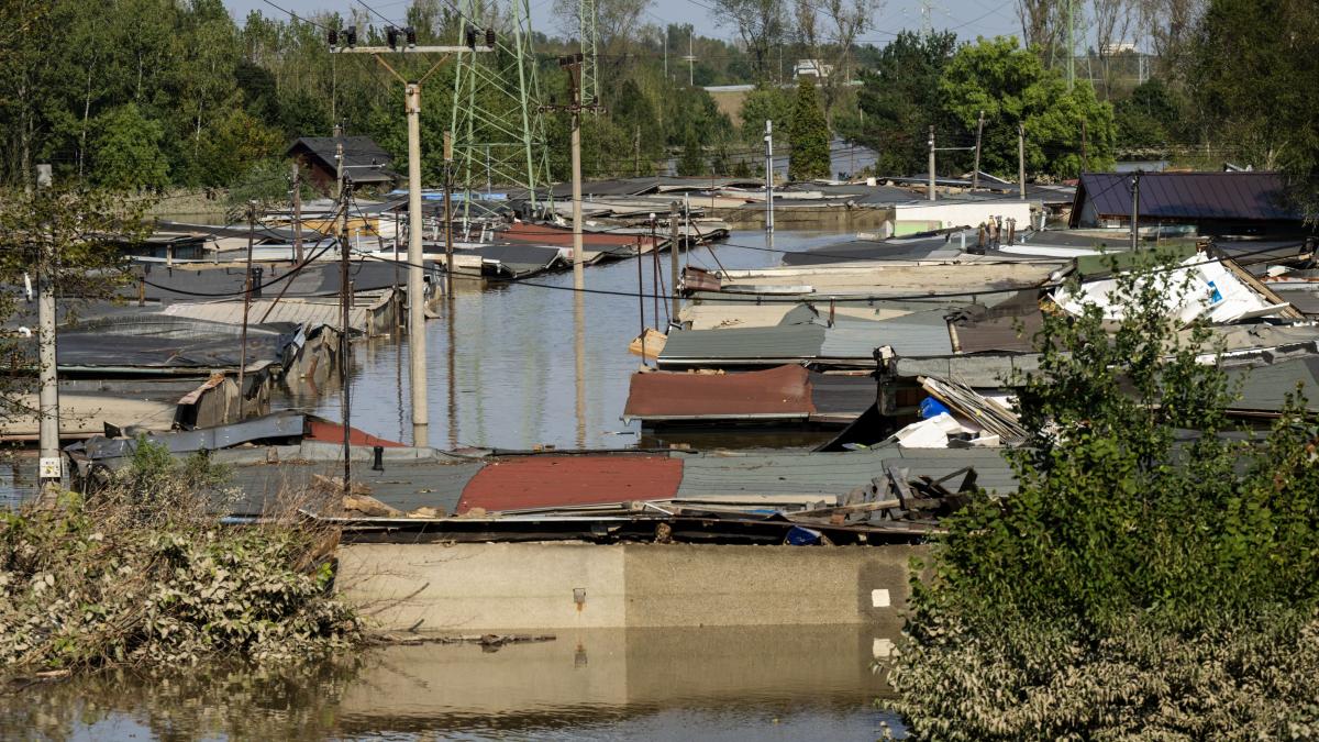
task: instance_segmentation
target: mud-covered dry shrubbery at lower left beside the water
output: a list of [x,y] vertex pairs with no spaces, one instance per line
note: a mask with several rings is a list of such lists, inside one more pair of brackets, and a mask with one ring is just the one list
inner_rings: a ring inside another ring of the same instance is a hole
[[0,514],[0,661],[11,673],[322,655],[360,635],[331,595],[332,531],[215,516],[224,473],[140,441],[95,495]]

